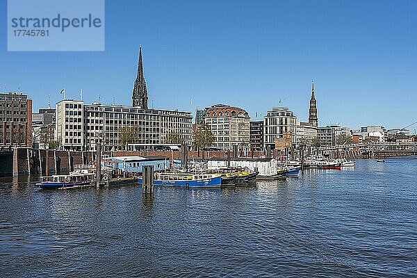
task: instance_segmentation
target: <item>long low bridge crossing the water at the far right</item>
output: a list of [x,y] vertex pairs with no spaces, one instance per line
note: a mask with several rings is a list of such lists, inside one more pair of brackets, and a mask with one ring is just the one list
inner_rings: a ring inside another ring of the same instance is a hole
[[372,144],[351,144],[322,146],[316,154],[330,158],[386,158],[390,156],[417,155],[417,142],[377,142]]

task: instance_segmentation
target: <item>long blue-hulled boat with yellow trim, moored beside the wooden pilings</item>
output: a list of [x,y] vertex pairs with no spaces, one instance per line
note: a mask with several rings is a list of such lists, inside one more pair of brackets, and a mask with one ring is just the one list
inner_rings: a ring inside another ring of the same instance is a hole
[[[138,183],[142,184],[142,177],[138,178]],[[221,184],[220,174],[156,173],[154,177],[155,186],[216,188]]]

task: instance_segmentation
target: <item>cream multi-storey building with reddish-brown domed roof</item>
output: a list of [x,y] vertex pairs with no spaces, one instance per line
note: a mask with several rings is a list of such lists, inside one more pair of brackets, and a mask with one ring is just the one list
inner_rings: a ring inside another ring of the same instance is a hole
[[215,149],[227,150],[233,145],[249,147],[250,116],[242,108],[216,104],[205,109],[204,123],[210,126]]

